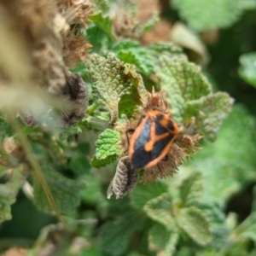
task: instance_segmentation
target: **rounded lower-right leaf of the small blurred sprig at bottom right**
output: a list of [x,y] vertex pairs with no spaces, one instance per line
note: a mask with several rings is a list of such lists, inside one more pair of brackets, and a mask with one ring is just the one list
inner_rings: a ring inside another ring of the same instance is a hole
[[199,208],[182,208],[176,219],[179,227],[198,244],[206,245],[212,240],[212,231],[207,215]]

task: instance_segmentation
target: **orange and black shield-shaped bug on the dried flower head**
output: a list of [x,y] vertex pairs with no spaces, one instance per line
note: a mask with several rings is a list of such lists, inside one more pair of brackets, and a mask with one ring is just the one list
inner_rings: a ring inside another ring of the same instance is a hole
[[[170,112],[150,110],[139,121],[131,136],[129,156],[135,168],[155,166],[163,160],[178,134],[177,124],[170,119]],[[128,138],[128,136],[127,136]]]

